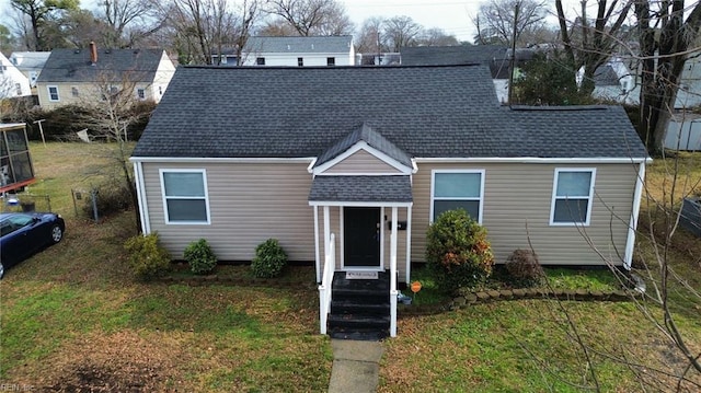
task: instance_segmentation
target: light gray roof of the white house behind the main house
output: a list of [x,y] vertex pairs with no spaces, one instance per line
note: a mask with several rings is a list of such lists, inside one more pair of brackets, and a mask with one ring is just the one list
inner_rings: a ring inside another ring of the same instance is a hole
[[250,37],[244,53],[276,53],[276,54],[347,54],[353,45],[353,36],[319,36],[319,37]]

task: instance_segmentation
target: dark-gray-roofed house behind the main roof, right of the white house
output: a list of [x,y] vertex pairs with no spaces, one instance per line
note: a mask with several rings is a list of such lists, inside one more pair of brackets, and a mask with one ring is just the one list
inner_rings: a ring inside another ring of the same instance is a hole
[[[501,45],[416,46],[401,50],[403,66],[486,65],[501,103],[508,102],[512,50]],[[533,57],[533,49],[516,49],[518,69]]]

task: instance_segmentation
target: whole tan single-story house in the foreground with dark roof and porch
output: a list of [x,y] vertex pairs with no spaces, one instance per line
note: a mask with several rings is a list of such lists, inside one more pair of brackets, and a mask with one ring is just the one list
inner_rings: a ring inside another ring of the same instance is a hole
[[623,108],[502,106],[480,65],[181,67],[131,161],[143,233],[173,257],[204,238],[251,261],[278,239],[315,264],[322,333],[334,271],[389,270],[394,335],[394,278],[448,209],[499,263],[532,245],[544,265],[630,268],[648,158]]

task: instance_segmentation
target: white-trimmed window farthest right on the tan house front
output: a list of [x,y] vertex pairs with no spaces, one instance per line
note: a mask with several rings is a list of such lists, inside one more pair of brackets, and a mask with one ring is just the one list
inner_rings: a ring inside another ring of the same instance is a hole
[[588,226],[594,199],[596,169],[555,169],[552,186],[551,226]]

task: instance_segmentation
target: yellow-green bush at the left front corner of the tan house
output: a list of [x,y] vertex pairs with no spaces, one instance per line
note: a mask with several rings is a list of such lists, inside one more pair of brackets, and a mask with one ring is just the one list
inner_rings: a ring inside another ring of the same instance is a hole
[[124,248],[129,253],[129,266],[139,279],[161,277],[171,268],[171,256],[159,245],[156,232],[127,239]]

